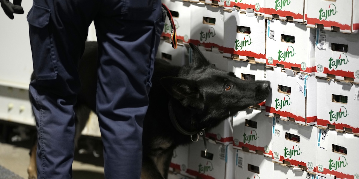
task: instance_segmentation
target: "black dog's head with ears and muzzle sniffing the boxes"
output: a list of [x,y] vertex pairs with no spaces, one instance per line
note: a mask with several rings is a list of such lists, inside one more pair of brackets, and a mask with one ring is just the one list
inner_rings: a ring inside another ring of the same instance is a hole
[[245,81],[233,72],[217,69],[195,45],[190,45],[193,63],[184,66],[178,77],[165,77],[160,82],[172,97],[195,111],[203,125],[217,125],[269,95],[269,81]]

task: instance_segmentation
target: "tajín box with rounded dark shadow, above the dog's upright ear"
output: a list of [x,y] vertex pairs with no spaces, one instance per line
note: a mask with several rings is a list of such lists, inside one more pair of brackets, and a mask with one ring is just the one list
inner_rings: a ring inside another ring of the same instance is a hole
[[[223,51],[223,9],[201,3],[190,6],[191,39],[195,45],[206,49],[218,48]],[[188,27],[187,27],[188,28]]]

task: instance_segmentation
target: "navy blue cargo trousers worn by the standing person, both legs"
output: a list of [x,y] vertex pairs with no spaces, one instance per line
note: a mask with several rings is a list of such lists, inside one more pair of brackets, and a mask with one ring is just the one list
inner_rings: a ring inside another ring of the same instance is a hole
[[139,179],[143,119],[164,26],[161,1],[34,0],[27,20],[36,76],[29,92],[38,131],[38,178],[72,178],[77,69],[94,21],[105,178]]

